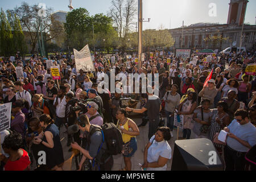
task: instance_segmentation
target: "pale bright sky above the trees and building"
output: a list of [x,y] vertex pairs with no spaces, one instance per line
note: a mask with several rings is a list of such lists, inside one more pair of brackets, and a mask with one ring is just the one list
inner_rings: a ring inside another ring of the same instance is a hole
[[[0,0],[3,10],[14,9],[20,6],[24,0]],[[84,7],[94,15],[97,13],[107,14],[112,0],[72,0],[75,8]],[[26,0],[30,5],[45,3],[54,11],[69,11],[69,0]],[[148,28],[159,28],[163,24],[164,28],[176,28],[199,22],[220,22],[226,23],[228,19],[230,0],[143,0],[143,18],[151,18],[150,23],[143,23],[143,30]],[[216,17],[210,17],[208,7],[210,3],[216,4]],[[247,4],[245,23],[255,24],[256,1],[249,0]],[[137,18],[137,15],[136,17]],[[135,25],[134,25],[135,28]]]

